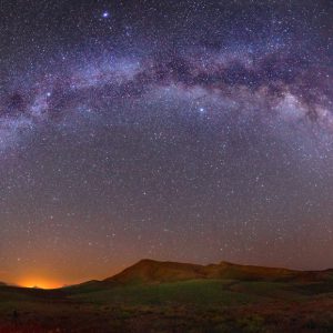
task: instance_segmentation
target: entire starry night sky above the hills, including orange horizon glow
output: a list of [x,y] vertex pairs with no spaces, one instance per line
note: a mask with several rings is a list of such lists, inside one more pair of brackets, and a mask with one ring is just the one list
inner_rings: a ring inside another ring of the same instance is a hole
[[330,0],[1,1],[0,281],[333,266],[332,65]]

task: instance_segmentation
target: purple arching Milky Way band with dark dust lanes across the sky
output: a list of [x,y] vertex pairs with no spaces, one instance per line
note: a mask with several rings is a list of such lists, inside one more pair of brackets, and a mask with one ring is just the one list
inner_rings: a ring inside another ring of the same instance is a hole
[[165,51],[135,60],[104,57],[69,65],[67,72],[46,68],[47,74],[29,85],[22,74],[20,87],[1,97],[2,143],[37,123],[63,121],[82,105],[91,112],[100,109],[103,100],[111,104],[135,100],[168,87],[175,87],[178,93],[192,92],[193,100],[202,97],[195,94],[201,89],[205,99],[213,97],[249,109],[258,104],[264,117],[276,113],[287,121],[307,119],[332,130],[332,73],[319,58],[287,46],[256,52],[198,47],[181,53]]

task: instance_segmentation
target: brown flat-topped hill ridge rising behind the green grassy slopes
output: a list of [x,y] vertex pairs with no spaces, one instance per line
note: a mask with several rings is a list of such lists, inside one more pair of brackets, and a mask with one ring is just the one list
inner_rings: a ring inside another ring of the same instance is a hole
[[229,262],[199,265],[179,262],[141,260],[121,273],[105,279],[108,283],[162,283],[199,279],[231,279],[242,281],[322,281],[327,271],[293,271],[287,269],[239,265]]

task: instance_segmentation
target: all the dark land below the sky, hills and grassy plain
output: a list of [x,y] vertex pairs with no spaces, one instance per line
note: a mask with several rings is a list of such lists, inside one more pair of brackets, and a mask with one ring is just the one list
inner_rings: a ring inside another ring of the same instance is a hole
[[59,290],[0,285],[0,332],[333,332],[333,270],[142,260]]

